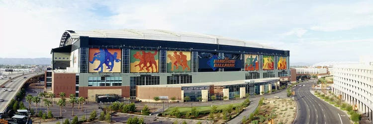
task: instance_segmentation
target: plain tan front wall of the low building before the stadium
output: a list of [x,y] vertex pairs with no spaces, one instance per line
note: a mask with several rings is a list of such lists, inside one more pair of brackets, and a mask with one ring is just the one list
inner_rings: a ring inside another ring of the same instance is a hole
[[[178,101],[182,101],[181,87],[141,87],[137,86],[137,99],[143,102],[156,102],[153,100],[155,96],[168,96],[169,102],[171,98],[175,97]],[[158,101],[162,102],[162,101]],[[167,102],[163,101],[163,102]]]

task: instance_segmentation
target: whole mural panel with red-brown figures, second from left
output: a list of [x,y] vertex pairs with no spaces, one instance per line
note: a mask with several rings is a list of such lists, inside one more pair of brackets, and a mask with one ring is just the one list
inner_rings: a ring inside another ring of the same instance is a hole
[[158,50],[131,50],[130,54],[131,73],[159,72]]

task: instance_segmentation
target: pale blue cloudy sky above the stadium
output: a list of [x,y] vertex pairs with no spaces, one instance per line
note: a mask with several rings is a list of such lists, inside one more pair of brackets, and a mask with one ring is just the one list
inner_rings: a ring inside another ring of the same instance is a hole
[[292,62],[373,54],[373,0],[0,0],[0,58],[50,58],[65,30],[161,29],[290,51]]

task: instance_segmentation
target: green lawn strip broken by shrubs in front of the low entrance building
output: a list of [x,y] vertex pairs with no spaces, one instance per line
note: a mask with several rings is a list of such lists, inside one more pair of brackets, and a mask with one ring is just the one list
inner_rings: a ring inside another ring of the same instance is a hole
[[[241,106],[242,103],[234,103],[234,104],[226,104],[226,105],[217,105],[217,111],[223,111],[223,109],[227,108],[229,105],[233,105],[233,108]],[[195,107],[199,113],[209,113],[211,110],[211,106],[193,106]],[[165,114],[170,114],[176,107],[170,107],[165,111]],[[180,112],[186,114],[187,112],[191,111],[191,107],[178,107]]]

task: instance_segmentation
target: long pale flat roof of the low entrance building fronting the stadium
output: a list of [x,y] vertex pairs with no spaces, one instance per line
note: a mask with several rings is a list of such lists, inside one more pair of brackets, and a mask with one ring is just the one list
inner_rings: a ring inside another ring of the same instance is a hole
[[[255,83],[266,82],[270,80],[279,80],[279,77],[271,78],[261,78],[261,79],[252,79]],[[141,85],[139,87],[186,87],[186,86],[225,86],[225,85],[235,85],[235,84],[244,84],[245,80],[234,80],[234,81],[221,81],[221,82],[206,82],[206,83],[185,83],[185,84],[163,84],[163,85]]]

